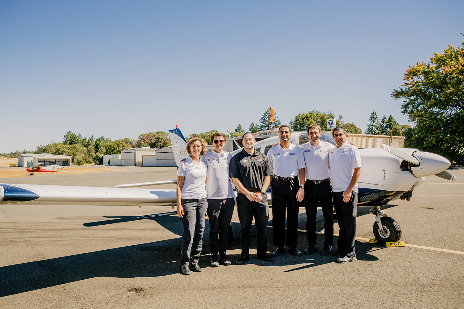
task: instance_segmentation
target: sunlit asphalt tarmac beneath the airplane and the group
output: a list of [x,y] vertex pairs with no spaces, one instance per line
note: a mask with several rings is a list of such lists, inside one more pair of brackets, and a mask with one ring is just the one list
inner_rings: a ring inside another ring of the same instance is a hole
[[[427,177],[411,201],[382,208],[400,224],[405,247],[368,243],[375,219],[366,214],[370,207],[358,207],[358,260],[348,264],[321,256],[318,234],[316,253],[285,253],[274,262],[256,259],[253,237],[250,261],[235,265],[239,223],[232,223],[233,264],[209,267],[206,229],[203,270],[183,276],[182,227],[171,206],[0,205],[0,308],[464,308],[464,166],[451,169],[457,182]],[[110,187],[175,175],[175,168],[122,167],[0,183]],[[300,251],[307,246],[305,222],[300,208]],[[271,244],[269,228],[270,252]]]

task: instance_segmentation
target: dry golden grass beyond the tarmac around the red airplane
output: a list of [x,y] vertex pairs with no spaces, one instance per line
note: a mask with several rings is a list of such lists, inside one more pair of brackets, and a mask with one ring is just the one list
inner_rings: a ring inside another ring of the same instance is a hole
[[[5,158],[0,157],[0,167],[8,167],[10,163],[18,164],[17,158]],[[65,166],[62,170],[54,173],[36,173],[36,174],[62,174],[62,175],[70,175],[70,174],[87,174],[87,173],[100,173],[100,172],[109,172],[114,170],[120,170],[114,167],[94,167],[94,165],[73,165],[73,166]],[[1,169],[0,170],[0,178],[12,178],[12,177],[23,177],[28,176],[30,173],[26,170],[25,167],[12,167],[11,169]]]

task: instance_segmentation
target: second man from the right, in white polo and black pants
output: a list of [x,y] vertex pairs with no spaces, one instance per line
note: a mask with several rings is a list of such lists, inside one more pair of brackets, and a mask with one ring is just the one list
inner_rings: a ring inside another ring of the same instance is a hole
[[306,208],[306,235],[308,248],[304,254],[317,251],[316,214],[318,201],[324,216],[324,247],[321,255],[329,255],[334,245],[334,220],[332,218],[332,187],[330,186],[329,151],[335,146],[320,140],[321,127],[308,126],[309,143],[300,146],[306,164],[304,206]]

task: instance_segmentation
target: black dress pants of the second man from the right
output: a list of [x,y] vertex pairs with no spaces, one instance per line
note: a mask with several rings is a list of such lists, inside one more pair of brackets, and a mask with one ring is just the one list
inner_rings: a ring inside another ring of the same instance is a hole
[[332,187],[330,181],[325,183],[304,183],[304,207],[306,208],[306,235],[309,245],[316,243],[316,214],[318,202],[321,201],[324,216],[324,245],[334,244],[334,219],[332,218]]

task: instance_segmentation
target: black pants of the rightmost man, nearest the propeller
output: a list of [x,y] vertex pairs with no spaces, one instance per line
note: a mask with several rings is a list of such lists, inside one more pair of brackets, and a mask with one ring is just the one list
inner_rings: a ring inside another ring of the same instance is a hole
[[351,198],[343,202],[343,192],[332,192],[335,211],[337,212],[338,226],[338,250],[344,255],[356,256],[354,252],[354,237],[356,235],[356,212],[358,210],[358,193],[351,191]]

